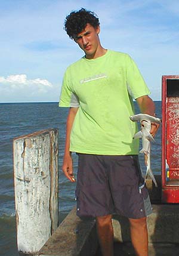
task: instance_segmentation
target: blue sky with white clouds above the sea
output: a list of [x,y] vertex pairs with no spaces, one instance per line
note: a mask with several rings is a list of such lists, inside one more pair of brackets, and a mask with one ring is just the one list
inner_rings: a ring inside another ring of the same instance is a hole
[[179,75],[178,0],[0,0],[0,102],[58,101],[63,74],[84,53],[64,31],[81,7],[100,19],[104,48],[128,53],[153,100]]

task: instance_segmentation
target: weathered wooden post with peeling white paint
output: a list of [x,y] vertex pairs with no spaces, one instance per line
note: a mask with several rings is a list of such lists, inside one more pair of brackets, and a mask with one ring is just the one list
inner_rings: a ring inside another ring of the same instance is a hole
[[58,226],[58,129],[14,138],[17,248],[32,255]]

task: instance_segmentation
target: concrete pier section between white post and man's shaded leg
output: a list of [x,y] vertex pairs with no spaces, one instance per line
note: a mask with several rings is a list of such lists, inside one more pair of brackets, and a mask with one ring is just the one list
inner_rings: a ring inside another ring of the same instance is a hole
[[81,220],[76,216],[76,208],[73,208],[38,255],[92,256],[95,255],[97,246],[95,221],[89,218]]

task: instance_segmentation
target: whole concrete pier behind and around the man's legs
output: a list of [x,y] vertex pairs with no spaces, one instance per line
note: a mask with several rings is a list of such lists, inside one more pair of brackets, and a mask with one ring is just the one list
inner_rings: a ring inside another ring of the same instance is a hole
[[[150,256],[179,256],[179,205],[161,204],[159,198],[161,177],[156,177],[159,187],[153,187],[150,180],[147,187],[151,198],[158,195],[153,203],[153,213],[147,218]],[[129,223],[125,217],[114,216],[115,255],[135,256],[129,235]],[[40,256],[100,256],[94,220],[81,220],[76,208],[60,224],[56,232],[41,248]]]

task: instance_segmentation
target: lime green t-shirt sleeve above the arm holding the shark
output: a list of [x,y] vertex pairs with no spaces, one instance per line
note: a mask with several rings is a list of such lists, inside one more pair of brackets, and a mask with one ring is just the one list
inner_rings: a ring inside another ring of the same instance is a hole
[[126,65],[126,81],[128,92],[132,98],[136,99],[143,95],[149,95],[150,90],[143,79],[134,60],[128,55],[128,64]]

